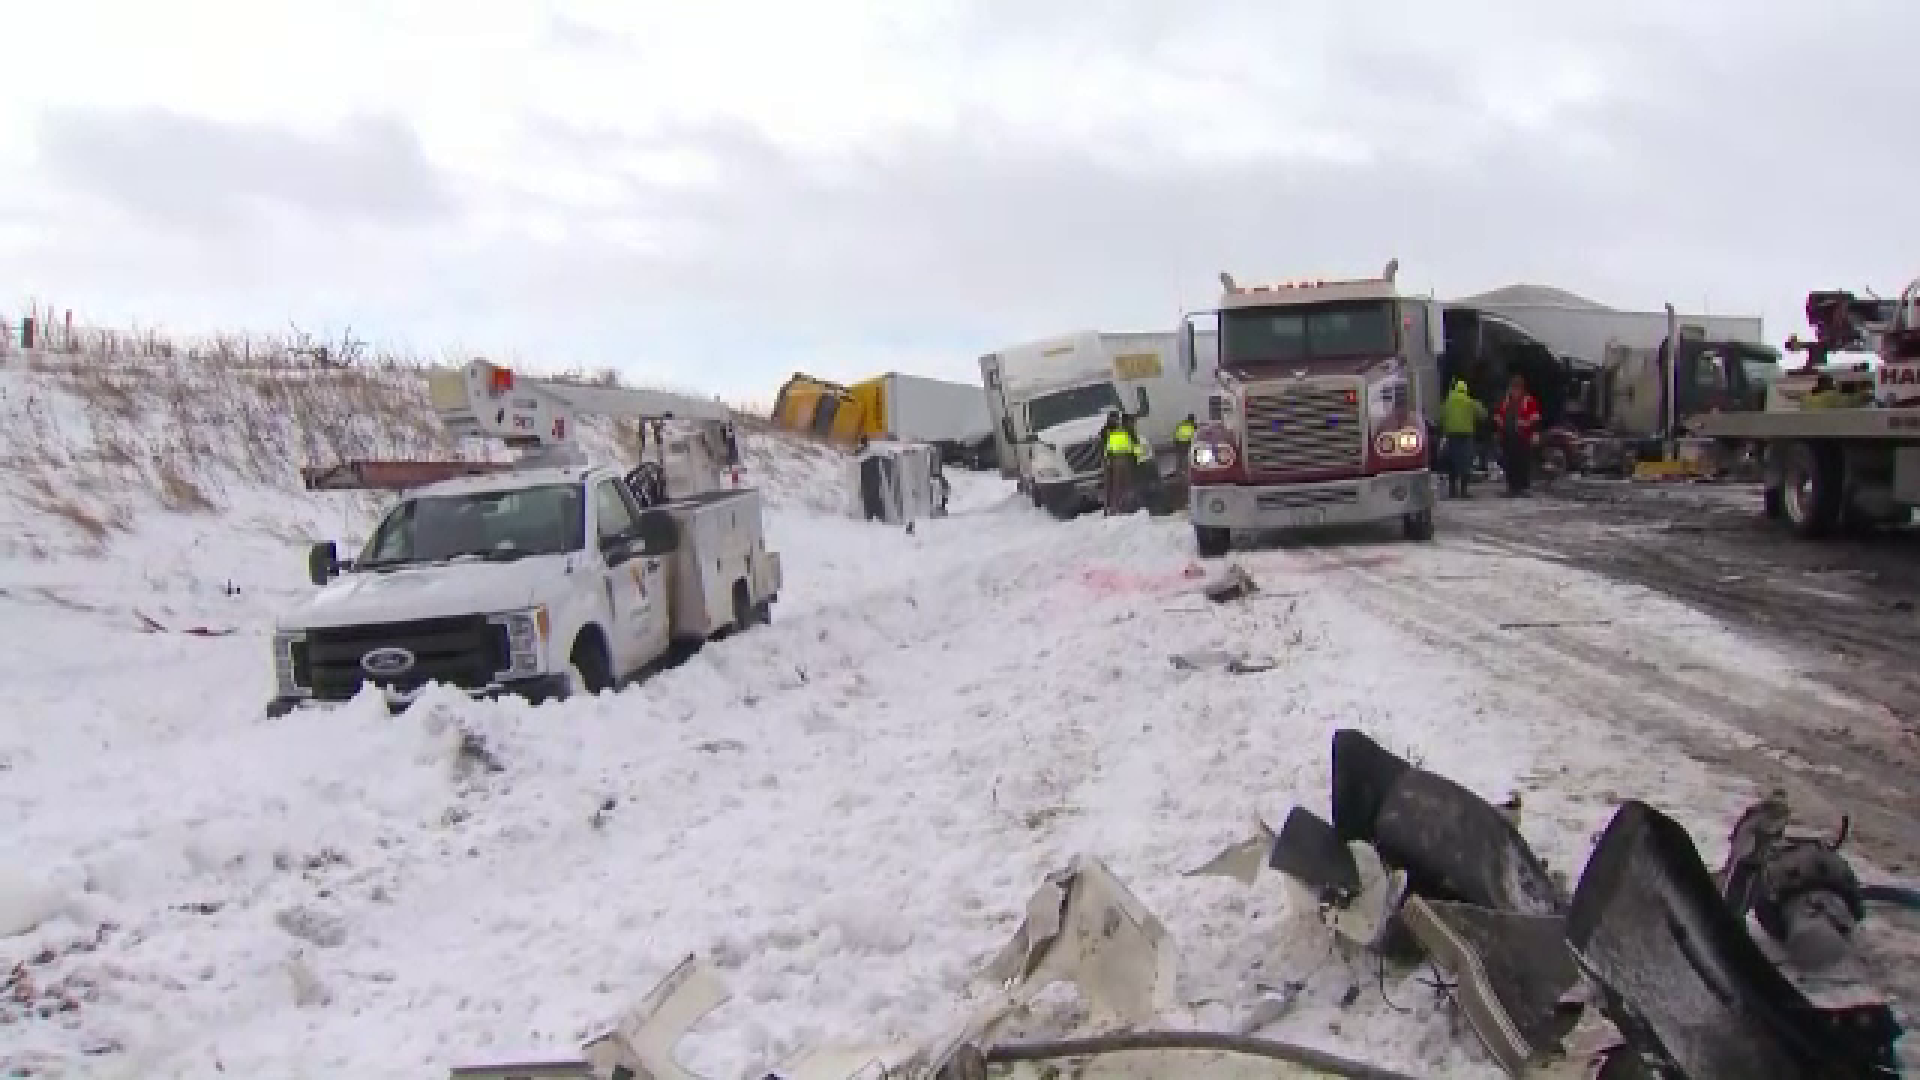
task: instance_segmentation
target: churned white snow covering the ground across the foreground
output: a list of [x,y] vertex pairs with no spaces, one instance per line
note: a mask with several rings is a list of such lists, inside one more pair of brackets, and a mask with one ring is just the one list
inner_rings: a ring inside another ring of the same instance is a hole
[[[1686,607],[1446,525],[1432,546],[1236,553],[1263,592],[1213,607],[1183,521],[1058,525],[960,480],[958,513],[916,536],[781,509],[772,626],[545,707],[265,721],[267,617],[303,557],[257,530],[127,542],[108,578],[10,565],[0,1072],[419,1080],[568,1057],[707,951],[735,1001],[689,1065],[743,1076],[943,1022],[1041,876],[1091,851],[1167,922],[1202,1020],[1308,978],[1265,1034],[1498,1076],[1421,982],[1329,963],[1271,876],[1181,872],[1256,813],[1325,813],[1336,726],[1524,792],[1528,840],[1569,876],[1622,796],[1716,863],[1753,790],[1659,732],[1751,751],[1716,703],[1849,707]],[[142,603],[238,632],[140,632]],[[1206,648],[1279,667],[1167,663]]]

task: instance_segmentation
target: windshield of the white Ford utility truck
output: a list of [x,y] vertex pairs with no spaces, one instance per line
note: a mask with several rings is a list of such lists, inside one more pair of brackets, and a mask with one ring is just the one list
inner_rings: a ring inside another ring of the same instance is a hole
[[411,498],[388,511],[357,567],[578,552],[586,546],[584,509],[580,484]]

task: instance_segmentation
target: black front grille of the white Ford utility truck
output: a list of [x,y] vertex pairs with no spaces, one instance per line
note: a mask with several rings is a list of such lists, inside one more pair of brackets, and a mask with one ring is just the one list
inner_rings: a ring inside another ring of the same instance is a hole
[[[372,650],[407,650],[413,669],[374,680],[361,669],[361,657]],[[486,615],[326,626],[307,630],[305,661],[313,698],[321,701],[346,701],[367,682],[407,692],[428,682],[474,690],[509,667],[507,628]]]

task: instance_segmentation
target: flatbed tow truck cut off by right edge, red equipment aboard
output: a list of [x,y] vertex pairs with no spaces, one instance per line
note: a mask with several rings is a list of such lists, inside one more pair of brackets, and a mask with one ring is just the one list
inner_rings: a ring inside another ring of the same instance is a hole
[[[1807,298],[1816,340],[1788,348],[1809,363],[1776,380],[1757,413],[1709,413],[1690,434],[1761,450],[1766,517],[1799,534],[1905,525],[1920,505],[1920,279],[1897,300],[1826,290]],[[1836,352],[1874,352],[1878,365],[1828,363]],[[1826,375],[1841,394],[1814,407],[1807,392]],[[1872,390],[1849,392],[1849,384]]]

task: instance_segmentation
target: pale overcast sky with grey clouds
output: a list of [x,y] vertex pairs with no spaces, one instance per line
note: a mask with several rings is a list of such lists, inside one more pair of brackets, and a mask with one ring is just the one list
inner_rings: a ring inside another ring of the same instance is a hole
[[13,307],[770,400],[1242,281],[1914,273],[1914,0],[0,0]]

